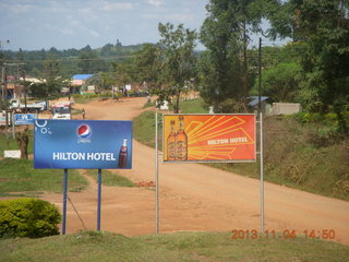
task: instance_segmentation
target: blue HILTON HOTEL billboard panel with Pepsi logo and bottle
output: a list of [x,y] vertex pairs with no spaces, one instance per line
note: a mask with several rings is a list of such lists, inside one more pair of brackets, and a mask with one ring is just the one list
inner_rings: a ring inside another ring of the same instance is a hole
[[132,168],[132,121],[35,120],[34,168]]

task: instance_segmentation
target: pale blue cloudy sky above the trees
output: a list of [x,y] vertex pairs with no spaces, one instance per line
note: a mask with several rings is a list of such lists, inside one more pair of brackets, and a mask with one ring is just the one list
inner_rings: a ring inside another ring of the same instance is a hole
[[[158,23],[200,31],[208,0],[0,0],[1,49],[99,48],[159,40]],[[254,43],[257,43],[254,36]],[[9,43],[8,43],[9,40]],[[276,43],[278,44],[278,43]],[[197,45],[196,49],[204,49]]]

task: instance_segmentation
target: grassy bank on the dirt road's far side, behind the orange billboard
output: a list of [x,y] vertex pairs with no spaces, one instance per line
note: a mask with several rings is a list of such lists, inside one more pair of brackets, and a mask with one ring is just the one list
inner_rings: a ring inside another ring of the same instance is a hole
[[[183,114],[204,111],[202,99],[181,102]],[[191,109],[191,107],[193,109]],[[161,114],[158,115],[159,121]],[[326,123],[300,123],[292,117],[266,117],[264,178],[277,184],[349,200],[349,139],[325,133]],[[155,146],[155,112],[145,111],[133,121],[134,138]],[[159,148],[161,129],[159,126]],[[203,164],[251,178],[260,178],[256,163]]]

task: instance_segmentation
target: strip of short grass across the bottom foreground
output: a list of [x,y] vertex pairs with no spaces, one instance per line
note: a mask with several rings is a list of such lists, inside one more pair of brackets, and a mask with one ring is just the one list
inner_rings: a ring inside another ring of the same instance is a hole
[[317,239],[230,239],[229,233],[176,233],[125,237],[81,231],[40,239],[1,239],[1,261],[36,262],[347,262],[349,247]]

